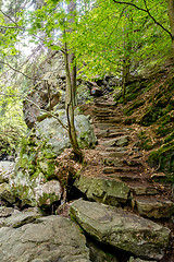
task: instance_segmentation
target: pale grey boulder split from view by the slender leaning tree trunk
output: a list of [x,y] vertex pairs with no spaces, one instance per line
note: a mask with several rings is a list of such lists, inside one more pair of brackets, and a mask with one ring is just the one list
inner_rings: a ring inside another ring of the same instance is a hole
[[[58,110],[57,116],[67,127],[65,110]],[[90,126],[89,118],[84,115],[75,115],[75,128],[77,141],[80,147],[95,146],[97,139]],[[64,148],[70,147],[67,130],[55,118],[46,118],[36,124],[36,136],[38,140],[47,141],[51,151],[59,155]]]

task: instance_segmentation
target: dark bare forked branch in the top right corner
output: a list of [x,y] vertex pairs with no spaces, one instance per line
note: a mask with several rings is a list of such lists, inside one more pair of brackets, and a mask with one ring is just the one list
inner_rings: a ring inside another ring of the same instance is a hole
[[162,24],[160,24],[160,23],[151,15],[151,13],[150,13],[150,11],[149,11],[149,9],[148,9],[148,7],[147,7],[146,0],[144,0],[146,9],[139,8],[138,5],[136,5],[135,3],[132,3],[132,2],[116,1],[116,0],[113,0],[113,1],[114,1],[115,3],[120,3],[120,4],[127,4],[127,5],[130,5],[130,7],[134,7],[134,8],[138,9],[139,11],[146,12],[146,13],[152,19],[152,21],[153,21],[157,25],[159,25],[163,31],[165,31],[165,32],[171,36],[171,38],[173,38],[171,32],[170,32],[169,29],[166,29]]

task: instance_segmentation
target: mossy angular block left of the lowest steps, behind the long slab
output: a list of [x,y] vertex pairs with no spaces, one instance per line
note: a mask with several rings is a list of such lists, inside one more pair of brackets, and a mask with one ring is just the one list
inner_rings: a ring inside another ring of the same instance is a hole
[[99,177],[79,176],[74,186],[89,200],[111,205],[125,203],[129,192],[129,188],[123,181]]

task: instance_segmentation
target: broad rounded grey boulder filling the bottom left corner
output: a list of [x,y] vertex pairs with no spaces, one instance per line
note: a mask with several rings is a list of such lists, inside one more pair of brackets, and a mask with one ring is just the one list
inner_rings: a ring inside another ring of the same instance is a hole
[[90,262],[86,239],[69,218],[52,215],[30,222],[0,228],[1,262]]

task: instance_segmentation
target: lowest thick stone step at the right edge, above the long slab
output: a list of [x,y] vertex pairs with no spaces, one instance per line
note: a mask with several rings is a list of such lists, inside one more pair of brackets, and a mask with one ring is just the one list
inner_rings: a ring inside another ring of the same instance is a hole
[[159,219],[174,215],[174,202],[160,195],[136,195],[132,202],[140,216]]

